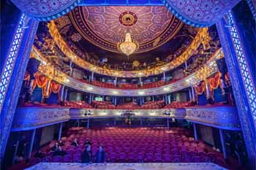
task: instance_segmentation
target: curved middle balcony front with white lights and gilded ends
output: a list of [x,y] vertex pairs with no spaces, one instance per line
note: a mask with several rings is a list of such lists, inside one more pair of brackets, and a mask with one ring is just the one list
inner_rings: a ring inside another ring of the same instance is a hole
[[[169,85],[163,85],[158,88],[149,88],[149,89],[135,89],[135,90],[120,90],[120,89],[111,89],[111,88],[100,88],[94,85],[89,85],[79,80],[75,80],[72,77],[64,74],[63,72],[55,69],[53,66],[50,66],[49,63],[45,60],[41,53],[34,47],[31,52],[31,57],[37,58],[39,61],[42,61],[42,64],[39,66],[39,72],[45,74],[46,77],[50,80],[55,80],[62,85],[66,85],[69,88],[74,88],[86,93],[94,93],[105,96],[154,96],[165,93],[172,93],[177,90],[182,90],[188,88],[195,83],[200,82],[201,80],[206,79],[206,77],[211,76],[212,74],[218,71],[217,63],[215,60],[223,56],[222,49],[217,50],[210,60],[206,63],[205,66],[202,66],[197,72],[190,74],[189,76],[178,80]],[[203,73],[203,74],[202,74]]]

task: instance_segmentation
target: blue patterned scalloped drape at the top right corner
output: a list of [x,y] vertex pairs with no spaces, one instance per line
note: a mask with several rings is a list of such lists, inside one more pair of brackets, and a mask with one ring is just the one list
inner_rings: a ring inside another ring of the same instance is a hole
[[191,26],[211,26],[240,0],[162,0],[177,18]]

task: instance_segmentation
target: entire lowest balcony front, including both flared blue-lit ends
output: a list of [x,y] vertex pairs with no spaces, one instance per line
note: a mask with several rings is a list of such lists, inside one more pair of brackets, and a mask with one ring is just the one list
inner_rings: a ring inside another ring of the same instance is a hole
[[184,119],[216,128],[240,130],[236,107],[230,106],[133,110],[30,106],[17,108],[12,123],[12,131],[26,131],[67,120],[128,116]]

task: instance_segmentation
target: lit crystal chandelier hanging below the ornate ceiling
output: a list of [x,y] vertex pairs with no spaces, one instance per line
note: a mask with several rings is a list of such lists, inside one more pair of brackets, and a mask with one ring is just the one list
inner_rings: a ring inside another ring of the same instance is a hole
[[125,34],[125,39],[121,42],[118,42],[117,48],[121,53],[126,54],[128,57],[132,53],[135,53],[138,50],[139,44],[135,40],[132,40],[131,34]]

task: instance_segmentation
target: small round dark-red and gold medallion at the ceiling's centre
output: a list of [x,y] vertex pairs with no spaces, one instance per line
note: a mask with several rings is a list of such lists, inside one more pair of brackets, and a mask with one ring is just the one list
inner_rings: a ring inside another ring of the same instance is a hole
[[122,12],[121,15],[119,15],[119,23],[123,26],[134,26],[135,23],[137,23],[138,18],[135,15],[134,12]]

